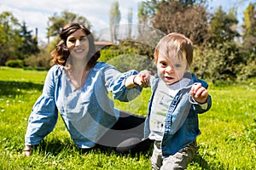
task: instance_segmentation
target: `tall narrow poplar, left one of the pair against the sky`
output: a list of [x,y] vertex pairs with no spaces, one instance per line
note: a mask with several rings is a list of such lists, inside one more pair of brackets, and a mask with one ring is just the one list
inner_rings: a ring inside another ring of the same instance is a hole
[[119,3],[113,2],[109,13],[109,26],[111,41],[117,42],[119,33],[119,22],[121,20],[121,13],[119,11]]

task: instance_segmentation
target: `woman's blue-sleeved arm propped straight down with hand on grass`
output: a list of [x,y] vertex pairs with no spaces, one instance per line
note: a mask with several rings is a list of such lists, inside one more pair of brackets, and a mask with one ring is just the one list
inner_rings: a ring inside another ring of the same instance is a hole
[[39,144],[49,134],[57,122],[55,106],[55,69],[50,69],[44,83],[43,94],[33,105],[26,129],[24,154],[30,156],[32,146]]

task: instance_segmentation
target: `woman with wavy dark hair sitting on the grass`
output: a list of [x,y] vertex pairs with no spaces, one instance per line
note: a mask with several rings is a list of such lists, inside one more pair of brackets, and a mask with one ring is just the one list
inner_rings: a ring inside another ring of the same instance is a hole
[[[33,105],[25,137],[24,154],[30,156],[55,127],[58,111],[74,143],[82,149],[107,146],[117,151],[139,151],[145,117],[117,110],[113,99],[130,101],[148,84],[145,74],[120,73],[98,62],[90,31],[79,23],[64,26],[61,41],[52,51],[52,64],[43,94]],[[143,144],[145,145],[145,144]]]

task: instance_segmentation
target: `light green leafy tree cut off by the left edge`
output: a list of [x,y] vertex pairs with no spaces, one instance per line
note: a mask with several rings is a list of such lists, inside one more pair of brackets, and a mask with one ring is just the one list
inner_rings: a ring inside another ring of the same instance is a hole
[[0,14],[0,65],[8,59],[18,59],[20,48],[20,24],[10,12]]

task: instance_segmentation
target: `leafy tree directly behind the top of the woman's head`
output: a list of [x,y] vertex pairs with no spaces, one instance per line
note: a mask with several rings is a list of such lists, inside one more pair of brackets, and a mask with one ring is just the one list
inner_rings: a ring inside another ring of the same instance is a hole
[[49,37],[56,37],[61,33],[61,28],[70,22],[79,22],[86,26],[90,30],[90,22],[85,17],[78,14],[73,14],[64,10],[61,15],[54,14],[48,19],[47,27],[47,38],[49,42]]

